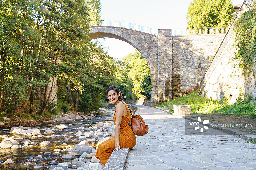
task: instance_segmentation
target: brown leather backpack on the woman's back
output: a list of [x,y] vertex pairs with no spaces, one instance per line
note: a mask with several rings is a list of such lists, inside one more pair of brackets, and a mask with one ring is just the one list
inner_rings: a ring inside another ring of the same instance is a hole
[[124,118],[127,124],[132,128],[133,133],[138,136],[143,136],[144,134],[147,134],[148,125],[145,124],[143,118],[140,115],[135,115],[132,109],[130,109],[130,113],[132,124],[130,124],[125,117]]

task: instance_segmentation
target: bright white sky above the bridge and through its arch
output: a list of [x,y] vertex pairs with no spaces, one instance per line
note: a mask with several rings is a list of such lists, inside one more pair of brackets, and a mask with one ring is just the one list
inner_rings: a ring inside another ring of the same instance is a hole
[[[101,0],[101,19],[144,25],[154,29],[186,29],[188,6],[193,0]],[[243,0],[232,0],[243,4]],[[130,44],[114,38],[98,38],[111,57],[133,53]]]

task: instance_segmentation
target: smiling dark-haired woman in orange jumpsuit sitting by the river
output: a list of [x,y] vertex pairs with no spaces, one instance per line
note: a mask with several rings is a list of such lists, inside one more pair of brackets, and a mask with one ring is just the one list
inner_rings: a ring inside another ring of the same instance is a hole
[[[115,136],[99,144],[95,157],[100,160],[102,168],[108,161],[113,150],[118,151],[120,148],[133,148],[136,145],[136,137],[132,128],[126,120],[131,123],[131,114],[128,106],[122,99],[122,92],[114,85],[108,87],[108,100],[115,103],[115,113],[113,122],[115,125]],[[125,117],[125,118],[124,118]]]

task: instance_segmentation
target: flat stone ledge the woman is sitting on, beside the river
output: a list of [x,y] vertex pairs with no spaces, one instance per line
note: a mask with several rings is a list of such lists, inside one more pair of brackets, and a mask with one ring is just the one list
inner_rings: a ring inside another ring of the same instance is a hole
[[128,158],[129,151],[129,148],[122,148],[120,151],[113,151],[103,170],[123,170]]

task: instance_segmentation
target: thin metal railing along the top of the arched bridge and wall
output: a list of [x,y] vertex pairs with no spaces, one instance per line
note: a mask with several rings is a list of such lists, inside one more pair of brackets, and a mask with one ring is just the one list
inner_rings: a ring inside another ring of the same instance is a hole
[[[122,21],[109,21],[109,20],[98,20],[98,21],[90,21],[90,26],[113,26],[118,28],[127,28],[136,31],[141,31],[144,33],[149,33],[152,35],[158,36],[158,30],[149,28],[147,26],[141,26],[138,24],[127,23]],[[180,29],[180,30],[172,30],[173,36],[179,35],[205,35],[205,34],[225,34],[228,28],[201,28],[201,29]]]

